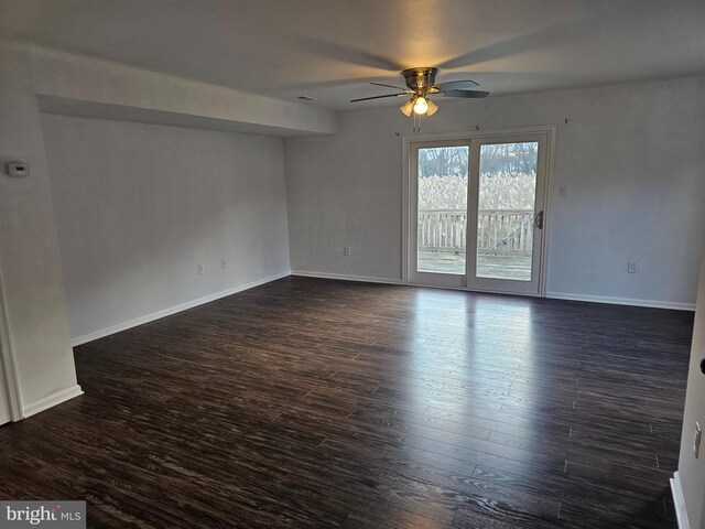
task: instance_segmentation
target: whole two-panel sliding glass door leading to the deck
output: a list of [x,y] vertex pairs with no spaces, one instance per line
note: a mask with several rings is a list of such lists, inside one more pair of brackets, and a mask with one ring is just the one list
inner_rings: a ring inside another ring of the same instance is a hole
[[409,282],[538,294],[547,133],[411,144]]

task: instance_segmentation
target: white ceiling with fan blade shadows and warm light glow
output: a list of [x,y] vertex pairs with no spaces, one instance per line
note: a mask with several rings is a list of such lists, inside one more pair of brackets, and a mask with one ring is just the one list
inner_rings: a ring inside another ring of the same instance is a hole
[[0,36],[339,110],[411,66],[495,95],[705,73],[704,0],[0,0]]

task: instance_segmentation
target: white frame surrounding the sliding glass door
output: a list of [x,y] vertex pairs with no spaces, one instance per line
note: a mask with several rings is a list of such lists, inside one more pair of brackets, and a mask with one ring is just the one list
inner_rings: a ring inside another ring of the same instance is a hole
[[[441,132],[441,133],[416,133],[416,134],[404,134],[402,136],[402,226],[401,226],[401,281],[402,284],[411,284],[419,285],[417,283],[413,283],[409,280],[409,267],[411,266],[412,256],[412,246],[409,242],[409,226],[412,224],[412,210],[409,207],[411,204],[411,185],[410,185],[410,175],[411,175],[411,155],[412,155],[412,143],[427,142],[427,141],[468,141],[471,142],[473,139],[477,138],[502,138],[502,137],[511,137],[511,136],[521,136],[529,133],[545,133],[547,134],[546,142],[546,174],[544,180],[544,206],[543,206],[543,217],[544,224],[543,229],[540,229],[541,233],[541,270],[539,273],[539,293],[538,294],[519,294],[517,292],[502,292],[499,290],[487,290],[487,289],[478,289],[471,287],[437,287],[431,284],[421,284],[420,287],[433,287],[441,289],[453,289],[453,290],[466,290],[471,292],[495,292],[495,293],[506,293],[506,294],[516,294],[516,295],[531,295],[545,298],[546,296],[546,273],[549,268],[549,231],[551,226],[551,202],[552,202],[552,182],[553,182],[553,168],[555,165],[555,136],[556,136],[556,126],[555,125],[546,125],[546,126],[536,126],[536,127],[512,127],[507,129],[487,129],[487,130],[473,130],[473,131],[459,131],[459,132]],[[473,163],[471,160],[469,163]],[[469,171],[469,166],[468,166]]]

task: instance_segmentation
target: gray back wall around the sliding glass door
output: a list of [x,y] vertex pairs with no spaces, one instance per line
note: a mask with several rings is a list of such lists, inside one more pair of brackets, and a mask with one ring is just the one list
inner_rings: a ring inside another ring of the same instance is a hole
[[[705,244],[704,94],[694,78],[440,99],[423,132],[557,125],[549,294],[688,306]],[[344,114],[335,136],[286,139],[292,270],[401,279],[395,133],[411,127],[392,107]]]

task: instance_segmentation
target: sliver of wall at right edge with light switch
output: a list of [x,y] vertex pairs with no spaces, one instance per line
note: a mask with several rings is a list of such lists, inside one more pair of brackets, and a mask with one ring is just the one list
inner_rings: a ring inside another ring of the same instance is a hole
[[699,457],[695,458],[693,453],[695,421],[705,428],[705,377],[701,373],[703,358],[705,358],[705,258],[701,267],[677,472],[692,529],[705,527],[705,441],[701,442]]

